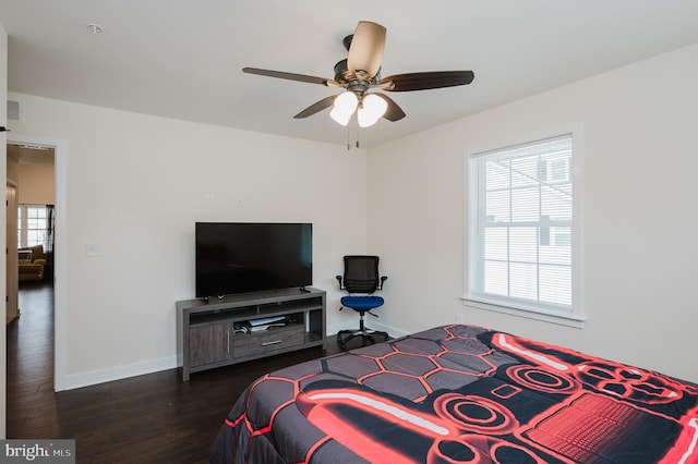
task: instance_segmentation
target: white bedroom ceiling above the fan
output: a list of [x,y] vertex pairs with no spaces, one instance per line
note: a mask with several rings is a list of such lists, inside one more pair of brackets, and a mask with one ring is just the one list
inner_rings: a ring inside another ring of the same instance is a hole
[[[359,21],[387,28],[384,76],[472,70],[473,83],[393,93],[407,118],[358,131],[327,110],[293,119],[337,89],[241,72],[333,78]],[[698,1],[0,0],[0,23],[10,91],[371,147],[696,44]]]

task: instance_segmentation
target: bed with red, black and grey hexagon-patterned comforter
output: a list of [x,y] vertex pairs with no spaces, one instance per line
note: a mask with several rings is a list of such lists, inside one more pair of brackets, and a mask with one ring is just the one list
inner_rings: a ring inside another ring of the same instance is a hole
[[214,463],[698,463],[698,386],[454,325],[251,384]]

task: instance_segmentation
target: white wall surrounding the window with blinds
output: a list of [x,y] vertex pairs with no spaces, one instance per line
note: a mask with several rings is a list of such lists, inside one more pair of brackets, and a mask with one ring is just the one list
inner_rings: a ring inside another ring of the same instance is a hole
[[[371,149],[368,245],[390,276],[385,325],[411,332],[465,313],[698,381],[696,82],[698,45]],[[465,307],[464,155],[570,125],[583,131],[586,328]]]

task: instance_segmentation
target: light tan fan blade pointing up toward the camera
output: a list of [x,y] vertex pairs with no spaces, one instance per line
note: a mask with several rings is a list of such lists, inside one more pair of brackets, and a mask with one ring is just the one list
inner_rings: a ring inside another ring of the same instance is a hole
[[357,25],[349,47],[347,68],[359,81],[371,80],[378,73],[385,49],[385,35],[386,29],[380,24],[360,21]]

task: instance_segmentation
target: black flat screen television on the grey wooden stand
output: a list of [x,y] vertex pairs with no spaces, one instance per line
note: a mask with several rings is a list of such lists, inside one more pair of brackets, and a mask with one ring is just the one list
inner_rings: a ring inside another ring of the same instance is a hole
[[196,222],[196,297],[313,283],[313,224]]

